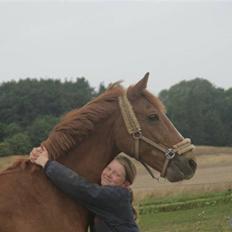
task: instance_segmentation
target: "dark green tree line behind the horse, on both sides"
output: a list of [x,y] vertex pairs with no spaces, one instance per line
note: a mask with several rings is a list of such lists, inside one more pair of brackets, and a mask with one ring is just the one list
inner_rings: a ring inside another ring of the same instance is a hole
[[[0,156],[27,154],[47,138],[66,112],[105,90],[85,78],[75,81],[26,79],[0,85]],[[167,114],[197,145],[231,146],[232,88],[224,90],[196,78],[162,90]]]

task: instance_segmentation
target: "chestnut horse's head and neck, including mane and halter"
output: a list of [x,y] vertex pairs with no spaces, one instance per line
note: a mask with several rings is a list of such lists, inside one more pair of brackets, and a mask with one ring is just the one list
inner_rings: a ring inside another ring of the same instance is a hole
[[50,158],[96,182],[119,152],[169,181],[191,178],[197,166],[191,157],[193,145],[167,118],[161,101],[146,90],[147,81],[148,74],[127,91],[117,83],[67,113],[43,142]]

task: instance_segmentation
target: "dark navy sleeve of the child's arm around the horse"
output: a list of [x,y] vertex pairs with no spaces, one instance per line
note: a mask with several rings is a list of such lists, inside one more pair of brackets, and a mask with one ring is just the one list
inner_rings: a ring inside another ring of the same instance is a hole
[[95,212],[110,211],[112,205],[115,206],[121,199],[128,198],[128,191],[124,188],[91,183],[57,161],[49,160],[44,172],[60,190]]

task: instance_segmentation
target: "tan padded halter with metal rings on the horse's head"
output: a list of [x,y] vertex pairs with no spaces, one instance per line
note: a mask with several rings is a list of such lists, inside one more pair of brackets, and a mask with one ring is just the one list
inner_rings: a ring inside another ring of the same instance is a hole
[[119,96],[119,106],[120,106],[120,110],[122,113],[124,123],[127,128],[127,131],[130,135],[132,135],[132,138],[135,141],[135,157],[134,158],[143,164],[143,166],[147,169],[147,171],[153,178],[158,179],[154,176],[154,174],[152,173],[148,165],[145,163],[145,161],[142,159],[142,157],[139,154],[140,140],[144,141],[145,143],[151,145],[152,147],[155,147],[157,150],[160,150],[164,153],[165,162],[164,162],[161,174],[160,174],[161,177],[165,177],[168,164],[170,160],[172,160],[175,157],[176,154],[182,155],[194,148],[194,146],[191,144],[191,140],[188,138],[183,139],[181,142],[175,144],[173,148],[168,148],[165,145],[155,143],[151,139],[143,136],[142,129],[135,116],[132,105],[130,104],[127,98],[126,92],[122,96]]

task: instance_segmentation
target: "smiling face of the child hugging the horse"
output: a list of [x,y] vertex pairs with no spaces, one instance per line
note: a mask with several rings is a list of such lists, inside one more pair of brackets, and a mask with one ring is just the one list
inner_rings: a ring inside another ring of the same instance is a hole
[[125,168],[117,161],[111,161],[101,174],[101,185],[128,187]]

